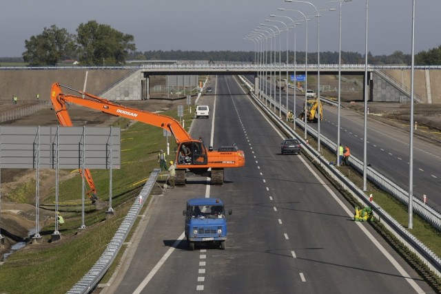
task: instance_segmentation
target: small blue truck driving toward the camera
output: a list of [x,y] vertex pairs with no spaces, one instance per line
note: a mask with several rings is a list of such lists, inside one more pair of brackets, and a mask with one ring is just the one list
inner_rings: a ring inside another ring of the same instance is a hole
[[[232,214],[229,209],[228,214]],[[227,219],[223,202],[217,198],[192,198],[187,200],[183,211],[185,216],[185,237],[189,250],[196,244],[214,243],[225,249],[227,240]]]

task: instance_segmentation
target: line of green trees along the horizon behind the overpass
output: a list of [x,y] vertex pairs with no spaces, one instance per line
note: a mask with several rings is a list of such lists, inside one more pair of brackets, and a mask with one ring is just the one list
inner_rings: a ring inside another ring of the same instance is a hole
[[[267,54],[267,62],[270,61]],[[294,52],[288,52],[288,63],[294,63]],[[305,52],[296,52],[296,62],[305,63]],[[341,52],[342,64],[364,64],[365,55],[358,52]],[[317,52],[308,52],[308,63],[317,63]],[[278,62],[278,52],[271,56]],[[110,25],[96,21],[81,23],[76,34],[51,25],[41,34],[25,40],[25,52],[21,57],[3,57],[0,62],[25,62],[30,66],[54,66],[61,61],[79,61],[81,65],[123,65],[127,60],[187,60],[232,61],[257,63],[260,56],[254,51],[136,51],[134,36],[115,30]],[[286,63],[286,51],[280,52],[280,61]],[[338,52],[320,52],[320,64],[337,64]],[[373,56],[368,53],[368,63],[373,65],[411,65],[411,54],[401,51],[391,55]],[[416,65],[441,65],[441,45],[415,55]]]

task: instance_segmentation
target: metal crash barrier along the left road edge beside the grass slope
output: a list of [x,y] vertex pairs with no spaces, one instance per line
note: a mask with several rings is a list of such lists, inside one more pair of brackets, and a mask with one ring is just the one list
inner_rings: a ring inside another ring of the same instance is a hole
[[130,229],[132,229],[136,217],[143,208],[143,204],[147,199],[147,196],[149,196],[152,188],[154,187],[154,183],[158,178],[159,171],[161,171],[161,169],[154,169],[152,171],[152,174],[150,174],[149,179],[147,182],[145,182],[139,196],[135,198],[132,208],[130,208],[130,211],[125,216],[112,240],[110,240],[109,244],[107,244],[107,248],[103,252],[103,255],[101,255],[101,258],[99,258],[92,268],[90,268],[88,273],[86,273],[81,280],[74,284],[74,286],[72,286],[70,291],[67,293],[90,293],[90,291],[96,287],[96,284],[98,284],[98,282],[112,265],[112,262],[114,262],[119,249],[121,249],[121,246],[123,246],[123,242],[125,238],[127,238]]

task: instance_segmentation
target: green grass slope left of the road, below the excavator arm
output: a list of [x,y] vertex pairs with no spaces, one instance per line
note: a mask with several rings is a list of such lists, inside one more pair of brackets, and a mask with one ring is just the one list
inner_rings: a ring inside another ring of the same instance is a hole
[[[174,116],[176,109],[164,114]],[[185,109],[187,126],[192,118],[193,114],[188,114]],[[118,123],[128,125],[124,120]],[[112,207],[115,214],[106,220],[107,208],[95,210],[88,201],[86,228],[81,232],[77,229],[81,226],[81,177],[77,175],[61,182],[59,211],[65,220],[59,226],[61,240],[49,242],[54,232],[54,224],[50,224],[40,232],[43,238],[41,244],[28,245],[10,255],[8,261],[0,266],[0,293],[65,293],[78,282],[113,238],[150,172],[158,168],[157,154],[165,144],[163,130],[158,127],[135,123],[121,132],[121,169],[114,169],[112,174]],[[174,149],[174,144],[170,149]],[[108,201],[109,171],[93,170],[92,176],[100,200]],[[54,199],[54,191],[50,191],[50,196],[41,205],[54,209]],[[75,202],[78,204],[72,205]]]

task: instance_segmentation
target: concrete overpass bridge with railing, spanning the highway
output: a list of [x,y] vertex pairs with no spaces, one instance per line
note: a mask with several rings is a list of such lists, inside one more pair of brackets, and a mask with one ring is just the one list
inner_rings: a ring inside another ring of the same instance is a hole
[[[424,83],[420,88],[422,93],[414,91],[415,101],[420,103],[432,103],[432,90],[430,83],[430,71],[441,72],[441,65],[432,66],[415,66],[415,70],[424,72]],[[411,98],[410,85],[404,85],[404,78],[402,82],[397,81],[396,78],[387,74],[387,72],[398,71],[410,75],[411,67],[404,65],[361,65],[361,64],[228,64],[228,63],[211,63],[211,64],[148,64],[141,65],[139,70],[145,79],[145,98],[150,98],[150,76],[156,75],[192,75],[192,74],[208,74],[208,75],[223,75],[223,74],[237,74],[237,75],[254,75],[254,90],[258,93],[259,77],[269,74],[272,76],[291,75],[294,74],[309,74],[317,75],[320,70],[320,75],[337,75],[340,72],[342,75],[368,75],[368,96],[369,101],[388,101],[388,102],[409,102]],[[364,91],[364,89],[363,89]],[[441,89],[440,89],[441,91]],[[436,91],[435,91],[436,92]],[[441,93],[440,93],[441,94]],[[440,95],[438,95],[440,96]],[[441,101],[440,101],[441,102]]]

